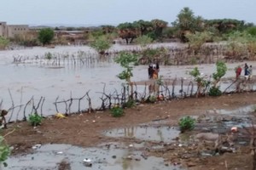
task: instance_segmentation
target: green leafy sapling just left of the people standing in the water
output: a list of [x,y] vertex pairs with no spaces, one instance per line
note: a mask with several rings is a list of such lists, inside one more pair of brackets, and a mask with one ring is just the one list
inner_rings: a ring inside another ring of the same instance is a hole
[[133,76],[132,69],[133,66],[137,63],[137,55],[127,52],[121,52],[119,54],[119,57],[114,59],[114,61],[125,68],[124,71],[119,73],[119,79],[131,83],[131,77]]

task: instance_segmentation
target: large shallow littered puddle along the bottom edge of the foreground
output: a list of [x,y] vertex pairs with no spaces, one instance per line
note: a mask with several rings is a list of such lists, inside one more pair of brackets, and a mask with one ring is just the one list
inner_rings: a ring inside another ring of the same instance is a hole
[[[122,148],[119,144],[102,144],[99,148],[81,148],[69,144],[45,144],[28,155],[11,156],[3,169],[57,170],[65,160],[71,169],[99,170],[179,170],[181,167],[166,166],[162,158],[143,156],[141,151]],[[92,166],[85,167],[84,159],[90,159]]]

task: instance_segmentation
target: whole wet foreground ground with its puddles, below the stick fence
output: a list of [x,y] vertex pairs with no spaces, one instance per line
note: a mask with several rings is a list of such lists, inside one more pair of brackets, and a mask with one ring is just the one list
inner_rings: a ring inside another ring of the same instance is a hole
[[[227,161],[231,169],[247,169],[249,137],[241,127],[252,125],[255,102],[255,93],[231,94],[139,105],[125,110],[125,116],[120,118],[106,111],[67,119],[47,118],[36,128],[27,122],[9,124],[6,133],[13,127],[18,128],[7,137],[14,149],[8,168],[198,170],[206,169],[204,166],[222,169]],[[177,121],[182,116],[196,119],[193,131],[179,133]],[[198,155],[196,133],[225,135],[233,126],[238,127],[234,146],[224,144],[225,152],[218,156],[213,150],[214,144],[209,143]],[[40,144],[39,147],[36,144]],[[85,158],[91,160],[92,167],[85,167]],[[147,165],[150,168],[143,167]]]

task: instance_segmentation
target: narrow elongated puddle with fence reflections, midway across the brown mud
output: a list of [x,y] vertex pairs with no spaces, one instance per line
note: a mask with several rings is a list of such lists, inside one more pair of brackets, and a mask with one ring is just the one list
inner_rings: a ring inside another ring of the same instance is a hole
[[167,126],[137,126],[116,128],[105,131],[104,134],[116,138],[135,138],[149,141],[159,141],[171,143],[173,139],[179,136],[180,131],[176,127]]

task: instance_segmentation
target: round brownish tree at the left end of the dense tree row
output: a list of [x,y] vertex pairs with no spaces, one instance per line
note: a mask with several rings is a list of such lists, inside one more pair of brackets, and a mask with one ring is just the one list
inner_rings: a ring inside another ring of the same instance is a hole
[[134,38],[140,35],[140,28],[137,23],[125,22],[119,24],[118,29],[119,37],[125,39],[127,44],[131,43]]

